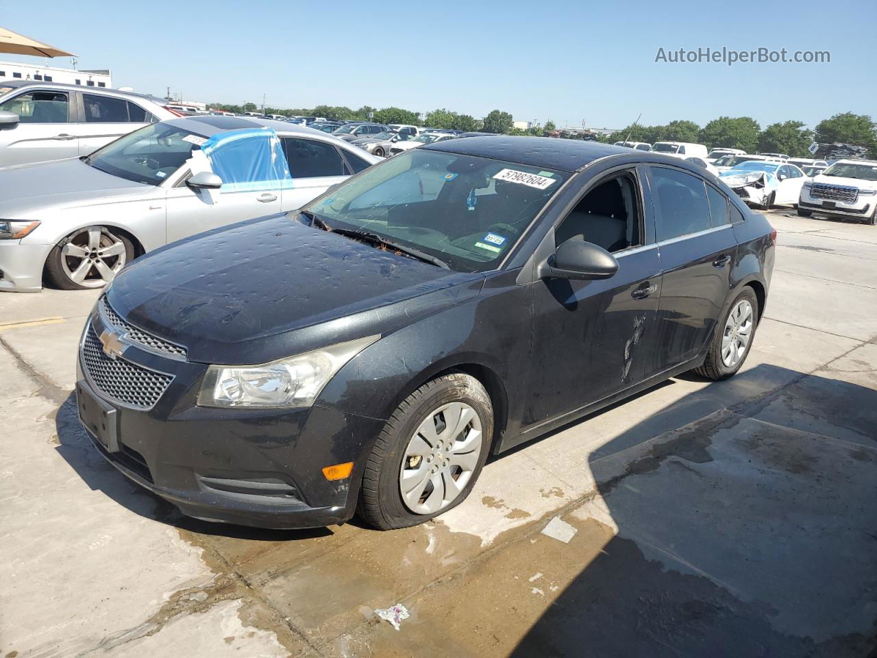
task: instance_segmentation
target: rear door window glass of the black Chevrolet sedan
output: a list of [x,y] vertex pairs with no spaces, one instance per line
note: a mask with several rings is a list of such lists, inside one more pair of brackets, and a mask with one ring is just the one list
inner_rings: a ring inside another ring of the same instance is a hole
[[709,229],[709,204],[702,179],[676,169],[652,167],[652,183],[660,207],[659,241]]

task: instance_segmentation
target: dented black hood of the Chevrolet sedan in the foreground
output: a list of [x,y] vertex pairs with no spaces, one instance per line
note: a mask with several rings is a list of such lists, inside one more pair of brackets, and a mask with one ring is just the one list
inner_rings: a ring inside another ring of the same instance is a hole
[[187,347],[189,361],[262,363],[392,332],[474,297],[483,281],[273,215],[146,254],[107,300]]

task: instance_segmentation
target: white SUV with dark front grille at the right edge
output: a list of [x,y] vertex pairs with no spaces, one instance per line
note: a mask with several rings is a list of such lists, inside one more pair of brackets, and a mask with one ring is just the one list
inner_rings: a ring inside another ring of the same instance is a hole
[[838,160],[805,182],[798,214],[864,219],[877,225],[877,161]]

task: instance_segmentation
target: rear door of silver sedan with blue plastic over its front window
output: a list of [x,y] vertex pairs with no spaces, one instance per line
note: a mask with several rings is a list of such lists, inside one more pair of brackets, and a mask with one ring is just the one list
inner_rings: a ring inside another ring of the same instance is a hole
[[349,175],[334,144],[304,137],[282,137],[281,142],[292,175],[291,186],[282,190],[283,211],[301,208]]

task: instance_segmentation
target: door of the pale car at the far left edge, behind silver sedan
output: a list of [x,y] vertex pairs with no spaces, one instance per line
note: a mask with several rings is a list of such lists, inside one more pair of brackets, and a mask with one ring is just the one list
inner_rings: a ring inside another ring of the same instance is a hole
[[25,91],[0,105],[18,114],[18,124],[0,127],[0,167],[74,158],[74,95],[67,91]]

